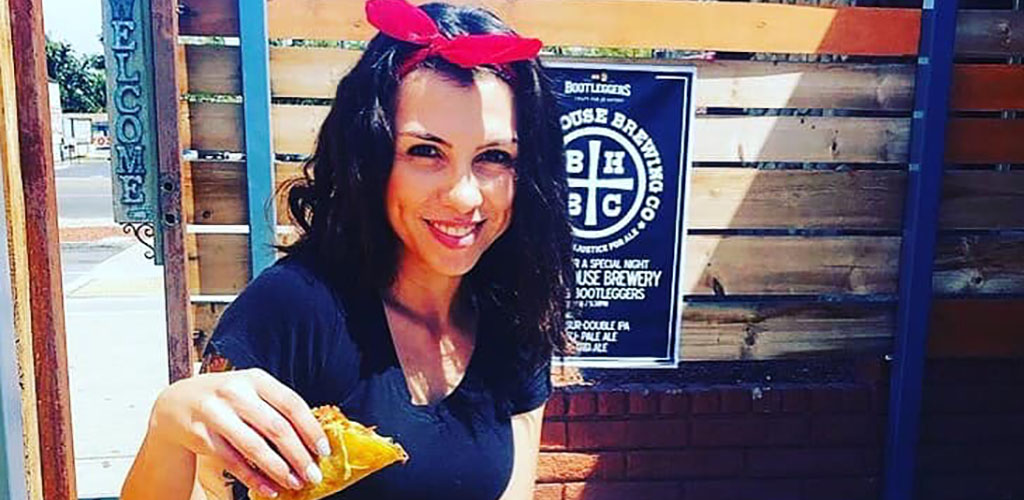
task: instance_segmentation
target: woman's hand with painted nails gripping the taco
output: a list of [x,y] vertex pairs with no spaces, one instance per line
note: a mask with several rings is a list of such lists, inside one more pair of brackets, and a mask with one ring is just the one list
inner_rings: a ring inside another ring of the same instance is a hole
[[209,457],[268,497],[323,481],[313,454],[331,454],[309,406],[258,368],[175,382],[154,405],[150,434]]

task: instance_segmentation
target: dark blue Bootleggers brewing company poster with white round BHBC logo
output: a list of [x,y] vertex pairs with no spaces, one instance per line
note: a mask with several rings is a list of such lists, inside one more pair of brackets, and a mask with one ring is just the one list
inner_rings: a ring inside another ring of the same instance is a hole
[[573,232],[578,355],[604,368],[678,365],[694,70],[548,64]]

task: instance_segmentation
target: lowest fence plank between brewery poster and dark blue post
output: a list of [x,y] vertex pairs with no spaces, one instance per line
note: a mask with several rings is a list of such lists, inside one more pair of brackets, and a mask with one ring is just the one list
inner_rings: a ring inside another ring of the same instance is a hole
[[882,356],[891,352],[895,306],[822,303],[687,303],[684,361]]

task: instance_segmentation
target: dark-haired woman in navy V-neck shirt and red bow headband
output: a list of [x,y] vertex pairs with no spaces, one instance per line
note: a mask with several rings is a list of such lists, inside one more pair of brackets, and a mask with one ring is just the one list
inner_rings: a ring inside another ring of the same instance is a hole
[[476,8],[368,15],[387,35],[289,192],[301,239],[224,312],[205,373],[159,397],[123,499],[206,498],[224,470],[237,497],[317,483],[324,404],[411,457],[336,498],[532,495],[572,284],[540,43]]

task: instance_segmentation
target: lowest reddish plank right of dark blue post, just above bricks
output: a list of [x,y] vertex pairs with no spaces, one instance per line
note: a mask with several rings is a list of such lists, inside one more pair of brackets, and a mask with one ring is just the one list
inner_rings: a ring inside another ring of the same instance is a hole
[[938,299],[932,307],[931,358],[1024,358],[1024,300]]

